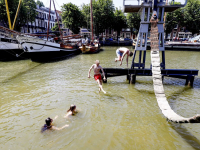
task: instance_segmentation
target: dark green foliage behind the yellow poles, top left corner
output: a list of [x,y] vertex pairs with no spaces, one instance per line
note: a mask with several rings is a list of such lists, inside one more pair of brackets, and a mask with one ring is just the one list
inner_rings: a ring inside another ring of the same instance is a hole
[[[8,0],[8,8],[10,12],[11,24],[13,24],[15,14],[17,11],[19,0]],[[8,18],[6,13],[5,1],[0,1],[0,21],[8,27]],[[18,18],[16,20],[15,30],[20,31],[20,27],[27,22],[35,21],[36,17],[36,3],[34,0],[23,0],[19,10]]]

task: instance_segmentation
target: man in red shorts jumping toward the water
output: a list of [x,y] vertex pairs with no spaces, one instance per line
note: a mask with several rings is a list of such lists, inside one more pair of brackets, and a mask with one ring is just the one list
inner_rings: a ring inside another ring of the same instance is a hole
[[99,60],[96,60],[95,61],[95,64],[93,64],[90,69],[89,69],[89,72],[88,72],[88,78],[90,78],[90,71],[92,69],[94,69],[94,79],[97,81],[98,85],[99,85],[99,92],[102,90],[104,94],[106,94],[106,91],[103,90],[103,87],[102,87],[102,78],[101,78],[101,73],[100,73],[100,70],[102,71],[103,73],[103,76],[104,76],[104,80],[106,80],[106,77],[105,77],[105,73],[103,71],[103,68],[99,65],[100,64],[100,61]]

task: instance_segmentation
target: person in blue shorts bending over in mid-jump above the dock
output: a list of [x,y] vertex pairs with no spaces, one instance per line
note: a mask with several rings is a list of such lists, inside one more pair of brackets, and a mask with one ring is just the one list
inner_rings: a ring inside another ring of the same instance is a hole
[[128,56],[130,56],[130,57],[133,56],[133,52],[131,52],[126,47],[120,47],[116,50],[116,54],[117,54],[117,58],[115,58],[115,62],[121,61],[120,66],[122,65],[122,61],[123,61],[125,55],[127,55],[126,62],[127,62],[127,67],[128,67]]

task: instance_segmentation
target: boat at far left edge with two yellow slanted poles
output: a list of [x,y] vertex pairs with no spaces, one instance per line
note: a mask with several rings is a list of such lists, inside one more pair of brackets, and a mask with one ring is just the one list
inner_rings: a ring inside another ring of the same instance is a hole
[[20,33],[13,31],[15,21],[19,12],[21,0],[19,1],[13,26],[11,26],[7,0],[5,0],[5,4],[10,29],[0,26],[0,61],[27,59],[29,58],[29,56],[26,53],[24,53],[21,44],[16,40],[16,35]]

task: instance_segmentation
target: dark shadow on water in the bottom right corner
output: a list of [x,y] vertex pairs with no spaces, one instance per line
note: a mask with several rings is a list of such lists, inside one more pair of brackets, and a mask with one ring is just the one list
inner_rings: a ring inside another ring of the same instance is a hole
[[182,124],[169,122],[171,127],[194,149],[200,149],[200,140],[188,131]]

